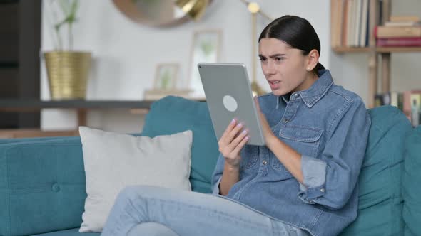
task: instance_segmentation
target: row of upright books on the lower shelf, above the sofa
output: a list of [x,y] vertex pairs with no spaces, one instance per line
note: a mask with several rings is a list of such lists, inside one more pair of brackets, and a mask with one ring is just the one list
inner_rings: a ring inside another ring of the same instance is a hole
[[375,95],[375,106],[392,105],[400,109],[412,126],[421,124],[421,90],[386,92]]

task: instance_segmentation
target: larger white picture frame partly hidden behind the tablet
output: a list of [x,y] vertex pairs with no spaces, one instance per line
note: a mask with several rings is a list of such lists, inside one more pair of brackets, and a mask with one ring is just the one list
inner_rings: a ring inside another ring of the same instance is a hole
[[190,78],[188,87],[192,90],[190,97],[204,98],[198,63],[217,63],[220,60],[222,31],[206,30],[193,33],[191,49]]

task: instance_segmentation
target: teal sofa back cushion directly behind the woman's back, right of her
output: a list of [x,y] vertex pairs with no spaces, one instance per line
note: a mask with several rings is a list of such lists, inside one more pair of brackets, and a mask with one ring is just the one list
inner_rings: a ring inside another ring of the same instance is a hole
[[372,119],[359,185],[357,219],[342,235],[402,235],[402,175],[409,120],[391,106],[369,109]]

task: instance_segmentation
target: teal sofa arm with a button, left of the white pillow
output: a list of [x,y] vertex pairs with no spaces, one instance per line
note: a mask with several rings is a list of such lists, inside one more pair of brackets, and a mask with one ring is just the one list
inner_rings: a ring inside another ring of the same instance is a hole
[[79,227],[85,198],[78,137],[0,145],[0,235]]

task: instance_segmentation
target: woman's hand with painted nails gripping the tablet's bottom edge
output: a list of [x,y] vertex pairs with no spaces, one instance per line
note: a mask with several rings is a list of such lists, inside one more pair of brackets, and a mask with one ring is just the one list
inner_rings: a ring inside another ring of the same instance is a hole
[[[243,130],[243,132],[241,132]],[[243,124],[237,122],[235,119],[228,125],[222,137],[218,141],[219,151],[225,157],[225,165],[230,167],[240,167],[240,151],[243,146],[247,144],[248,136],[247,129],[243,129]]]

